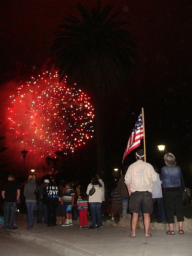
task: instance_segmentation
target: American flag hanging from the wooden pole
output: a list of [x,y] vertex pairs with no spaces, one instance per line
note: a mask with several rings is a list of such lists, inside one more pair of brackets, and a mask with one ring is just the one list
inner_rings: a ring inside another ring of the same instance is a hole
[[136,147],[140,146],[141,140],[144,138],[144,129],[143,129],[143,120],[142,120],[142,111],[135,123],[135,126],[132,130],[132,134],[130,135],[128,144],[125,148],[125,153],[123,155],[123,160],[126,156]]

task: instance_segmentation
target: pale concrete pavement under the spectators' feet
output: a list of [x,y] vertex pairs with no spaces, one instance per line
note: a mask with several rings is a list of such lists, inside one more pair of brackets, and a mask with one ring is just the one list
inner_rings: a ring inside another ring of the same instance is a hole
[[[105,224],[105,223],[104,223]],[[27,230],[26,217],[16,218],[17,230],[9,232],[18,239],[26,239],[46,246],[62,256],[191,256],[192,232],[180,235],[166,235],[165,231],[151,230],[152,237],[145,238],[144,230],[138,229],[136,237],[129,236],[131,229],[103,226],[101,230],[78,229],[73,226],[47,227],[46,224],[34,224],[33,230]]]

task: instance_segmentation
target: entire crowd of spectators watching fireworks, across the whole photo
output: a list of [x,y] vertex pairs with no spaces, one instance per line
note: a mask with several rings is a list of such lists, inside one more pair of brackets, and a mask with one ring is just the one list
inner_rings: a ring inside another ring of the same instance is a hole
[[[132,214],[130,237],[136,236],[138,218],[144,220],[145,237],[149,233],[150,222],[156,208],[157,222],[167,222],[168,235],[174,235],[174,216],[176,215],[179,233],[183,231],[183,205],[181,170],[176,165],[175,156],[167,153],[164,156],[165,166],[160,175],[155,166],[144,161],[144,150],[135,153],[136,161],[116,182],[111,193],[108,214],[111,221],[123,218],[127,213]],[[79,229],[101,229],[104,215],[105,184],[97,173],[91,178],[88,186],[84,187],[74,182],[55,182],[51,177],[36,182],[36,176],[30,174],[24,185],[23,193],[14,181],[12,174],[8,182],[2,185],[1,195],[4,200],[4,229],[17,229],[14,218],[17,204],[21,203],[22,195],[27,213],[27,229],[34,226],[34,211],[37,205],[37,224],[45,223],[47,227],[62,225],[70,227],[73,219],[79,216]],[[156,205],[156,207],[154,207]],[[91,226],[88,223],[88,209],[91,213]]]

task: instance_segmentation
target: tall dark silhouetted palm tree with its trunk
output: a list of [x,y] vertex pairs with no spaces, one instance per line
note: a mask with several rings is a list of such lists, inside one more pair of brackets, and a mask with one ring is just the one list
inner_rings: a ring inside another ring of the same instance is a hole
[[136,58],[133,37],[121,28],[128,23],[114,21],[120,12],[109,16],[112,8],[108,5],[101,11],[98,1],[89,12],[79,3],[77,9],[82,19],[72,15],[64,17],[55,32],[50,51],[55,58],[60,82],[66,79],[70,85],[75,83],[93,100],[96,109],[97,171],[105,171],[102,126],[105,99],[109,94],[117,94],[121,86],[127,86]]

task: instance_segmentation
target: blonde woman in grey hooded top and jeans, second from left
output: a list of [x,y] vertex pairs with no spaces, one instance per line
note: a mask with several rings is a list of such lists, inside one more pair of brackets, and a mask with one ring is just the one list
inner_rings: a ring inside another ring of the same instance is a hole
[[34,194],[36,190],[36,176],[34,174],[30,174],[28,178],[28,183],[24,186],[24,197],[25,204],[27,208],[27,223],[28,227],[26,229],[33,229],[34,223],[34,210],[36,207],[36,195]]

